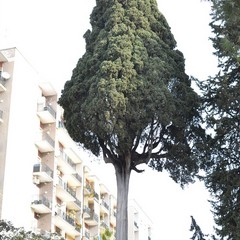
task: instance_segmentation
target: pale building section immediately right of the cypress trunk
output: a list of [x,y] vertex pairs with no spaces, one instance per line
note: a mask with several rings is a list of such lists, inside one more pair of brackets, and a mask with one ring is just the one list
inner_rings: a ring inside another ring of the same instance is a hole
[[128,205],[128,238],[151,240],[152,221],[134,199]]

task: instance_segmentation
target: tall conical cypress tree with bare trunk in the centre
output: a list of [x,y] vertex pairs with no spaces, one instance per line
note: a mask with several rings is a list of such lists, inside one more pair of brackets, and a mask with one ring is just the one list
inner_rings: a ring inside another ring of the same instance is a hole
[[127,240],[132,170],[145,163],[193,181],[199,101],[156,0],[97,0],[90,22],[59,103],[73,140],[115,168],[116,237]]

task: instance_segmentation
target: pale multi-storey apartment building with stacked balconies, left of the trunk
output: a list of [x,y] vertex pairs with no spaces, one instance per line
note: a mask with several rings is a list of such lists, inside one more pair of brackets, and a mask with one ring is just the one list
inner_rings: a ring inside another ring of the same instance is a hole
[[57,100],[16,48],[0,50],[0,219],[66,240],[110,229],[114,240],[116,199],[68,135]]

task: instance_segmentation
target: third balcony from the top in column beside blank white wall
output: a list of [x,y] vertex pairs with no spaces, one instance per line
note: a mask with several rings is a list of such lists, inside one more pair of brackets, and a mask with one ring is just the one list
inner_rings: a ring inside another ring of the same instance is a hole
[[33,165],[33,179],[34,183],[39,184],[43,182],[52,182],[53,171],[44,163],[37,163]]

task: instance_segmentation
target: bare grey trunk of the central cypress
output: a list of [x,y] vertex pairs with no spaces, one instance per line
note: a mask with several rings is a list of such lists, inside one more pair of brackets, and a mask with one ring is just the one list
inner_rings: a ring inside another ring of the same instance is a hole
[[[129,162],[129,161],[126,161]],[[130,180],[130,165],[116,168],[117,180],[117,225],[116,240],[128,240],[128,191]]]

